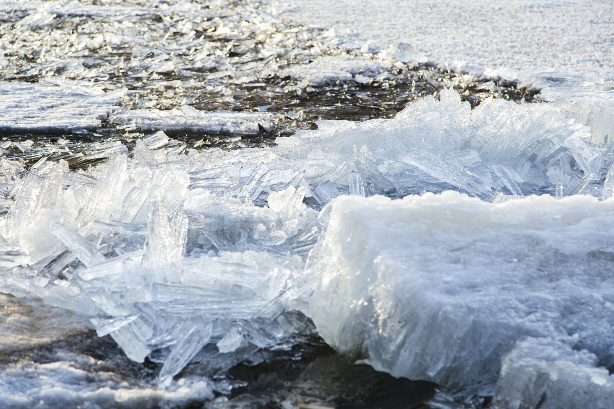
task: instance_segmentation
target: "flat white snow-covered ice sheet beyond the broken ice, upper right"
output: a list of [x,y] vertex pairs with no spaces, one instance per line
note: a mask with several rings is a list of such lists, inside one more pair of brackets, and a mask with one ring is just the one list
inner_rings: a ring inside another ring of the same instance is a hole
[[[276,0],[270,10],[334,29],[340,42],[395,52],[475,74],[546,85],[614,83],[614,5],[608,1]],[[541,85],[541,86],[540,86]]]

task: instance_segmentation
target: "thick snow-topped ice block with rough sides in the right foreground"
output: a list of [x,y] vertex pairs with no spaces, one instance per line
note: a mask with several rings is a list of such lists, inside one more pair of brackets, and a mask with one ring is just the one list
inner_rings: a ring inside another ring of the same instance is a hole
[[612,405],[596,366],[614,364],[614,201],[447,191],[328,207],[307,269],[337,350],[451,388],[492,388],[501,372],[500,408]]

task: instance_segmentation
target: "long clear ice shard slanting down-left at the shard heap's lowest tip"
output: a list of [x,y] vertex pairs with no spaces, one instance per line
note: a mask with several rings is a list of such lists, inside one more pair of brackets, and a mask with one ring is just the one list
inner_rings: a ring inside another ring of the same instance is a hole
[[203,346],[209,342],[213,324],[203,323],[202,320],[195,320],[192,329],[184,335],[179,342],[173,347],[173,351],[169,354],[160,370],[160,380],[172,378],[187,365],[190,360],[203,349]]

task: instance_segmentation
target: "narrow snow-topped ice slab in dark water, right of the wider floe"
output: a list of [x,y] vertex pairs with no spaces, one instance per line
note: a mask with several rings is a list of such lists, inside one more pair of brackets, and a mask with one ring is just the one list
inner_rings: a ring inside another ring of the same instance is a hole
[[273,115],[266,112],[203,112],[184,105],[181,110],[136,109],[115,113],[112,123],[130,129],[161,131],[214,132],[257,135],[270,131]]

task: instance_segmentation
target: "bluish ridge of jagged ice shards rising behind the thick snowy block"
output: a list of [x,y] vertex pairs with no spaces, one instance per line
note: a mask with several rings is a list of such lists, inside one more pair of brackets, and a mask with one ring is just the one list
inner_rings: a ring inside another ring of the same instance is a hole
[[[446,189],[482,199],[497,191],[554,195],[559,182],[562,194],[587,189],[600,195],[596,182],[607,171],[604,149],[583,140],[589,129],[548,104],[490,99],[471,110],[456,91],[444,90],[440,101],[425,97],[392,120],[319,126],[278,139],[276,152],[311,164],[311,172],[335,169],[318,186],[325,197],[349,191],[402,197]],[[324,196],[320,202],[327,202]]]

